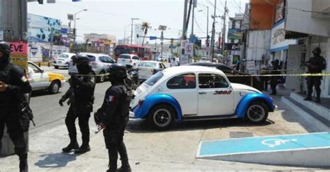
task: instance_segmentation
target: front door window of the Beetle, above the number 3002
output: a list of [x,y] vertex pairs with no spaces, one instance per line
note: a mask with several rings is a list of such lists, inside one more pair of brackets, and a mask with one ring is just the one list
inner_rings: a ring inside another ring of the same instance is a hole
[[198,87],[201,89],[229,87],[226,79],[217,74],[198,74],[198,82]]

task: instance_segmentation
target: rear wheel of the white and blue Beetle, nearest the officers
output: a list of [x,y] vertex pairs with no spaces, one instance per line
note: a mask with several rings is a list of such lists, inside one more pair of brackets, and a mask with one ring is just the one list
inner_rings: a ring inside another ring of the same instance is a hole
[[175,110],[171,105],[160,104],[152,107],[148,114],[148,123],[152,128],[164,130],[171,126],[175,119]]

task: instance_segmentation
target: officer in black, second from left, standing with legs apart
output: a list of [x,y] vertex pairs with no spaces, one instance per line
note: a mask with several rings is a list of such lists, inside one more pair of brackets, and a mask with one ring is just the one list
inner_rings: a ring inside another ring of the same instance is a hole
[[[77,55],[73,58],[77,64],[79,74],[72,74],[70,78],[70,88],[60,99],[59,104],[63,105],[68,97],[70,98],[70,108],[65,117],[65,124],[68,128],[70,144],[63,148],[64,153],[75,150],[74,153],[86,153],[91,150],[89,146],[89,126],[88,121],[93,112],[95,78],[89,65],[87,55]],[[79,147],[77,142],[77,130],[75,121],[78,118],[81,131],[82,144]]]

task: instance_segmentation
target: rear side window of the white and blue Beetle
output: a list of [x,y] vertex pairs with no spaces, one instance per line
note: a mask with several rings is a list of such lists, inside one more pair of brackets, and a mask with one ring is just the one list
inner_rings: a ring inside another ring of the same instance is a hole
[[182,74],[168,80],[168,89],[194,89],[196,88],[195,74]]

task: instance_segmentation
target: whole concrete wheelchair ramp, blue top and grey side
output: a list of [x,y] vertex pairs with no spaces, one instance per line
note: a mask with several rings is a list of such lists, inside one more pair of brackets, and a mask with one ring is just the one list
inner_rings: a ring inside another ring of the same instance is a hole
[[286,166],[330,166],[330,132],[201,141],[198,158]]

